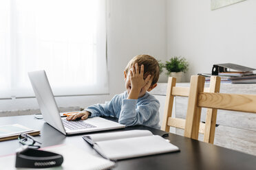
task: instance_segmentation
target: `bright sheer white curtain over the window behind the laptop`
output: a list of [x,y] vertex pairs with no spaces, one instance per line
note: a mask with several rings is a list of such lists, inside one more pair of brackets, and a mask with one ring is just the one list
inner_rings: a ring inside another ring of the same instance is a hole
[[103,0],[0,1],[0,98],[34,96],[45,70],[54,95],[108,93]]

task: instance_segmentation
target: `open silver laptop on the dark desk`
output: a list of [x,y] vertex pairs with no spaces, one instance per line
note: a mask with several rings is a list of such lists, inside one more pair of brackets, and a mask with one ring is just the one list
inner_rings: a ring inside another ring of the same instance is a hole
[[43,119],[59,132],[65,135],[82,134],[125,127],[125,125],[101,117],[92,117],[84,121],[67,121],[65,117],[61,117],[61,113],[58,111],[45,71],[29,72],[28,76],[39,103],[39,108],[43,114]]

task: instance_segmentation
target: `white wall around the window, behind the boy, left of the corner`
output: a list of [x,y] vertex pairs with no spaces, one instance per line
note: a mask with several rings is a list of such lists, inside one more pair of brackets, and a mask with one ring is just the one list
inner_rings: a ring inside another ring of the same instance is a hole
[[[166,0],[109,0],[107,54],[109,93],[103,96],[56,97],[60,107],[104,103],[125,90],[123,71],[134,56],[167,57]],[[39,108],[36,99],[0,100],[0,111]]]

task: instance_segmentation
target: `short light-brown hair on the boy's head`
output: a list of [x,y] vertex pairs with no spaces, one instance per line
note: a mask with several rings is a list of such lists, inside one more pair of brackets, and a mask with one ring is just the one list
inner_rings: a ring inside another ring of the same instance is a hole
[[159,64],[158,60],[153,58],[152,56],[149,55],[138,55],[132,58],[127,66],[125,67],[125,73],[128,74],[129,69],[131,69],[131,66],[134,66],[136,63],[138,63],[139,67],[143,64],[144,65],[144,75],[151,75],[153,77],[152,83],[156,84],[159,79],[160,71],[159,71]]

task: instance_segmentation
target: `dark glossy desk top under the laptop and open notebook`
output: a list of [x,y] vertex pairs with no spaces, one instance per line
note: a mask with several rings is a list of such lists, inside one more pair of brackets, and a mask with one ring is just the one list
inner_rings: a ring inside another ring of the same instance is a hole
[[[83,141],[82,135],[65,136],[43,120],[34,119],[31,115],[0,118],[0,125],[13,123],[41,130],[41,136],[36,138],[43,143],[42,147],[66,143],[98,155]],[[126,127],[125,130],[150,130],[153,134],[165,134],[161,130],[145,126]],[[120,160],[116,163],[115,169],[256,169],[256,156],[176,134],[169,134],[168,138],[171,143],[180,147],[179,152]],[[13,154],[20,146],[17,140],[0,142],[0,156]]]

